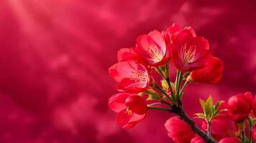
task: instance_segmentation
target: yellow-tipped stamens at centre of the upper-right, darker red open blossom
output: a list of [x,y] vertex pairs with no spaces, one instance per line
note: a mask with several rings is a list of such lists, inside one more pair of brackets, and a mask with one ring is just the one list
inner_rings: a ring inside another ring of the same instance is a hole
[[193,57],[196,55],[196,46],[189,46],[185,44],[180,49],[180,57],[183,58],[185,63],[193,62]]

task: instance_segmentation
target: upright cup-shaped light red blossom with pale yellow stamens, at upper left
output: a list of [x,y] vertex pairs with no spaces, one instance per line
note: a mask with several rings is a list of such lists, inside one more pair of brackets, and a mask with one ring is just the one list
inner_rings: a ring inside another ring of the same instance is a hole
[[137,47],[134,48],[150,66],[158,66],[168,59],[165,39],[159,31],[151,31],[137,38]]

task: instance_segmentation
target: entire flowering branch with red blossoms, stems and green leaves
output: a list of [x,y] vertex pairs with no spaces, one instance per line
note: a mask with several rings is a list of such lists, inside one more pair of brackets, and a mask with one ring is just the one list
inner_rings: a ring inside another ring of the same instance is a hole
[[[110,97],[109,107],[118,113],[117,124],[124,129],[145,119],[149,109],[160,109],[177,115],[165,123],[168,136],[175,142],[240,142],[239,136],[242,142],[253,142],[252,132],[249,138],[243,133],[246,121],[250,121],[251,129],[255,124],[251,112],[256,114],[252,105],[256,99],[250,92],[237,94],[227,103],[214,105],[211,98],[200,101],[204,110],[196,114],[204,119],[200,128],[183,111],[182,97],[188,84],[214,84],[224,70],[224,63],[209,49],[208,40],[197,36],[190,26],[181,29],[173,24],[162,32],[142,34],[133,47],[117,52],[117,60],[109,75],[117,82],[119,93]],[[170,72],[171,66],[177,72]],[[156,73],[161,80],[156,80]],[[175,80],[170,79],[171,74],[176,74]]]

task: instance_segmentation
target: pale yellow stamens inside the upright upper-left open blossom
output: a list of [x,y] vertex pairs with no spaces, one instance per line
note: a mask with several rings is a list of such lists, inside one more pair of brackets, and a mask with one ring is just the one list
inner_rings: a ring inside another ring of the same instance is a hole
[[157,63],[163,59],[160,49],[155,44],[150,44],[147,50],[148,54],[152,59],[151,61]]

